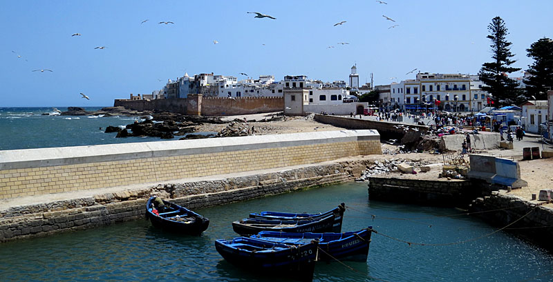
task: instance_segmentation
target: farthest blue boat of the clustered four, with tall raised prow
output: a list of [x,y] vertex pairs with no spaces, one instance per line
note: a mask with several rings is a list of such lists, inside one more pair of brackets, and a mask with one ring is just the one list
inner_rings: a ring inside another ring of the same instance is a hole
[[340,232],[342,219],[344,219],[344,212],[346,211],[346,204],[340,203],[336,208],[329,210],[328,212],[319,212],[318,214],[307,213],[291,213],[291,212],[259,212],[251,213],[250,219],[270,219],[280,221],[315,221],[318,219],[324,219],[327,216],[334,216],[333,228],[330,232]]

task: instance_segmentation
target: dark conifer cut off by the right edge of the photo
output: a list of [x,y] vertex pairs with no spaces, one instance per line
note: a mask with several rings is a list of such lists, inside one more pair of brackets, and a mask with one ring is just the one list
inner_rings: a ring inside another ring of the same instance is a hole
[[526,51],[527,56],[534,59],[534,63],[527,70],[530,77],[524,80],[527,97],[534,96],[537,100],[547,100],[547,89],[553,87],[553,40],[539,39]]

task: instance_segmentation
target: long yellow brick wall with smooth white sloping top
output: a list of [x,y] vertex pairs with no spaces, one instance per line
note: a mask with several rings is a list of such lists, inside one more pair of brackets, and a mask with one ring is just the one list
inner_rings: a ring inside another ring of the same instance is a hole
[[0,151],[0,199],[382,154],[375,130]]

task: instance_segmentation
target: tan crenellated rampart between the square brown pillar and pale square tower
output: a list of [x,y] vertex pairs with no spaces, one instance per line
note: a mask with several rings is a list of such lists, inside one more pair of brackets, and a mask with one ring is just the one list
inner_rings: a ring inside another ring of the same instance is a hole
[[281,112],[283,97],[203,97],[203,116],[234,116],[238,114],[259,114],[260,112]]

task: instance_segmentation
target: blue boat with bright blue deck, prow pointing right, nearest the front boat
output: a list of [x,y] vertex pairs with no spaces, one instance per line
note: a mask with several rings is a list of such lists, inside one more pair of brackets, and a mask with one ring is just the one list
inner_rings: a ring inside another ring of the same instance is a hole
[[319,241],[319,256],[317,260],[335,261],[366,261],[368,245],[371,243],[373,228],[345,233],[288,233],[263,231],[252,235],[252,238],[283,243],[289,245],[303,245],[313,240]]

